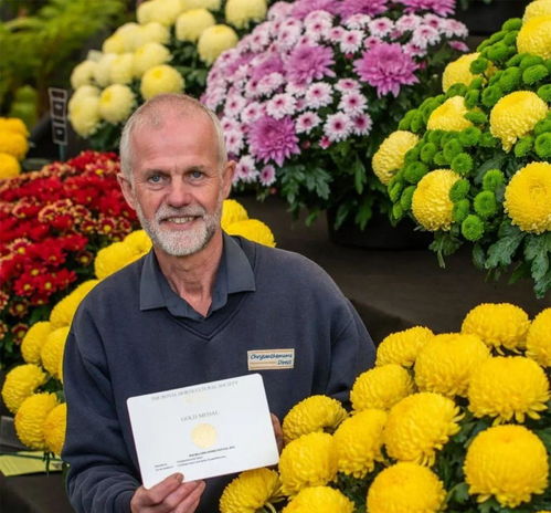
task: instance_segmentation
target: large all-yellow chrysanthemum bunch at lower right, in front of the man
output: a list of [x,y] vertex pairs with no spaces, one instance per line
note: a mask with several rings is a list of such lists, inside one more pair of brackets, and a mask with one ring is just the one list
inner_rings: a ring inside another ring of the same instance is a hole
[[240,474],[221,512],[274,511],[282,495],[284,513],[549,510],[550,331],[551,308],[530,321],[486,303],[457,333],[389,335],[352,410],[326,396],[297,404],[278,472]]

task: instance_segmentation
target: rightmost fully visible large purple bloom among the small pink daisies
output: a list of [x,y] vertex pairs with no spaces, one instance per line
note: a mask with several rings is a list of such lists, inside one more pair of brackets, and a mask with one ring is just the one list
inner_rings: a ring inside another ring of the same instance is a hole
[[400,86],[415,84],[417,64],[403,52],[398,43],[379,43],[354,61],[360,78],[377,88],[378,96],[392,93],[398,96]]

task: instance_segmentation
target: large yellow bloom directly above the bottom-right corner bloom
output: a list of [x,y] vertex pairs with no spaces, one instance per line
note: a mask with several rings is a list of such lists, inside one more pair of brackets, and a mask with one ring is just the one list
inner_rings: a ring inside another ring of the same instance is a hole
[[496,356],[470,376],[469,410],[475,417],[496,417],[495,423],[539,419],[547,408],[549,383],[544,370],[523,356]]

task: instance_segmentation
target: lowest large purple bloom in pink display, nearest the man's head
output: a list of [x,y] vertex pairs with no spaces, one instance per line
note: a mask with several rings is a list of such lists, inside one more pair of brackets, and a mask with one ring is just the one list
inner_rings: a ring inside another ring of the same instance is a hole
[[274,160],[278,166],[286,158],[300,153],[295,124],[290,117],[261,117],[251,125],[248,143],[255,157],[264,163]]

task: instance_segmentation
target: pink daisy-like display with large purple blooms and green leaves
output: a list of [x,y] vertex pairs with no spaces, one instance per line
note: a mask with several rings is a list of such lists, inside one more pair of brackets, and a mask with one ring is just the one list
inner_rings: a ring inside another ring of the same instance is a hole
[[444,60],[466,50],[465,25],[445,18],[453,4],[274,4],[266,22],[218,59],[202,96],[222,118],[237,186],[266,193],[276,185],[295,213],[338,207],[364,226],[373,200],[367,137],[382,140],[433,87]]

